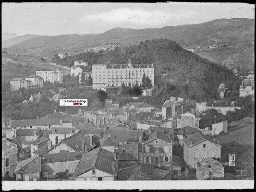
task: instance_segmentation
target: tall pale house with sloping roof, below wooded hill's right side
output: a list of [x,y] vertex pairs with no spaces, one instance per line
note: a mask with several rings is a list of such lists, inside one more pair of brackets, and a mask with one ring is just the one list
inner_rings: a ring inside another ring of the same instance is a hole
[[166,100],[162,106],[162,120],[176,117],[183,114],[183,98],[171,96],[170,100]]

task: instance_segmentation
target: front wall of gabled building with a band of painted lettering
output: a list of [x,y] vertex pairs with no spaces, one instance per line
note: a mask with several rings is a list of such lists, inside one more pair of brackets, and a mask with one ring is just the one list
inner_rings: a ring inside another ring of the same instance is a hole
[[[156,141],[158,141],[158,144],[156,144]],[[149,157],[149,164],[171,164],[172,143],[156,139],[143,145],[143,163],[147,164],[146,157]],[[149,146],[149,152],[146,152],[146,146]],[[159,147],[159,152],[155,151],[155,146]],[[168,146],[168,151],[164,151],[165,146]],[[155,162],[155,157],[159,157],[159,163]],[[165,161],[164,157],[168,157],[168,161]]]

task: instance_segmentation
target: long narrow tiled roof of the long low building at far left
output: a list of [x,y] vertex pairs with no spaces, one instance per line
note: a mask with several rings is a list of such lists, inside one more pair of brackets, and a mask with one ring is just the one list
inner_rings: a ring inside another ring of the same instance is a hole
[[11,120],[12,127],[60,125],[59,119]]

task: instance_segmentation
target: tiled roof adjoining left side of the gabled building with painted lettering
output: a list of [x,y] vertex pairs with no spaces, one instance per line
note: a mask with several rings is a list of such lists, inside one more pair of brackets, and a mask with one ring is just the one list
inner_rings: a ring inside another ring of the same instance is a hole
[[138,144],[120,144],[117,150],[117,158],[120,161],[138,160]]

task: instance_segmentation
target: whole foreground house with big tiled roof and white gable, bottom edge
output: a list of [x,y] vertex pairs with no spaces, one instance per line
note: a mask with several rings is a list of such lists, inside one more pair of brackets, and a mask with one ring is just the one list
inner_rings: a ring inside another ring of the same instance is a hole
[[101,147],[83,154],[75,172],[75,180],[117,180],[116,154]]

